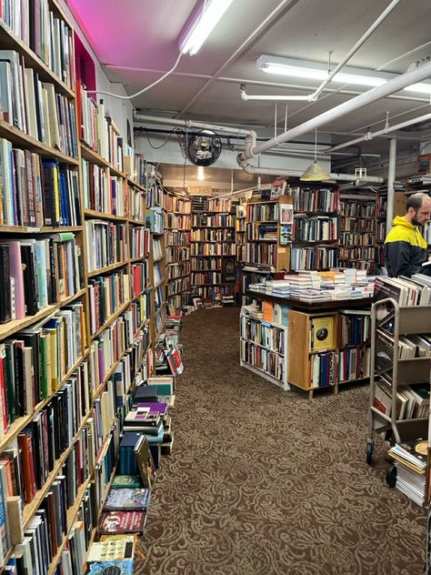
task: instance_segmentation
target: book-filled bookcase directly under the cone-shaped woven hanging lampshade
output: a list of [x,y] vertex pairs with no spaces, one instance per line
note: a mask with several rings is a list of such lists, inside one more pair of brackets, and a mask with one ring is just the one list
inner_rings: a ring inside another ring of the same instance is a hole
[[295,210],[290,269],[325,270],[338,267],[338,187],[291,187],[290,193]]

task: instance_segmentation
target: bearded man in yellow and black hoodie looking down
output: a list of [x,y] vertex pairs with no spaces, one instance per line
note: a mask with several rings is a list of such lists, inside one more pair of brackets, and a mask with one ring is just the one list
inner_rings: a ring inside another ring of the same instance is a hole
[[385,240],[385,265],[389,277],[411,277],[423,272],[428,259],[420,227],[431,218],[431,197],[418,192],[407,199],[406,216],[396,216]]

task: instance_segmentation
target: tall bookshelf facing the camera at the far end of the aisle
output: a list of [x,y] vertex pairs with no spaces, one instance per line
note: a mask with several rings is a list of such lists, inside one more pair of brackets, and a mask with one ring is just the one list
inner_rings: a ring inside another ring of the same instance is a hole
[[191,292],[203,299],[235,295],[235,277],[225,277],[228,264],[235,268],[236,257],[235,214],[230,200],[192,197],[190,245]]

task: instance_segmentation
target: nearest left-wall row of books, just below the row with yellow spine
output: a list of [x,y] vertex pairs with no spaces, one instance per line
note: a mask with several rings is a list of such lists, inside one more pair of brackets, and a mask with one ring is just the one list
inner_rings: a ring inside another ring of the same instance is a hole
[[81,247],[71,232],[0,243],[0,322],[34,316],[84,287]]

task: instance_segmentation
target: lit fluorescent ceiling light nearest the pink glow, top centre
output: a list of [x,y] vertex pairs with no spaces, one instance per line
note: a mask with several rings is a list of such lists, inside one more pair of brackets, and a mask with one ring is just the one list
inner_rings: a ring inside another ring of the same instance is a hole
[[204,44],[208,35],[216,27],[233,0],[206,0],[199,2],[197,9],[188,18],[179,39],[179,49],[195,55]]

